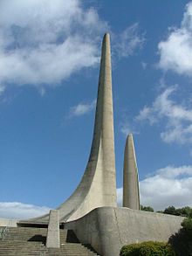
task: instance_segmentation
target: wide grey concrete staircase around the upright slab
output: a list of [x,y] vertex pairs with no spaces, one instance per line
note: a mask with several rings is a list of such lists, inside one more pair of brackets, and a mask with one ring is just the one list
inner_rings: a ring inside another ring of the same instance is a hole
[[58,249],[46,248],[47,228],[11,227],[4,239],[0,240],[1,256],[93,256],[90,246],[83,246],[75,239],[72,231],[60,229],[61,246]]

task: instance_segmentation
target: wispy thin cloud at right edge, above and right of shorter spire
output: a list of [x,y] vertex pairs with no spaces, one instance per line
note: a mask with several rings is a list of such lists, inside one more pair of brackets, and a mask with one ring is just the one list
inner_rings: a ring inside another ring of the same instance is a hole
[[161,131],[164,142],[191,143],[192,142],[192,108],[177,104],[170,96],[177,86],[168,87],[153,102],[151,107],[144,107],[136,116],[136,121],[147,120],[151,125],[166,120]]

